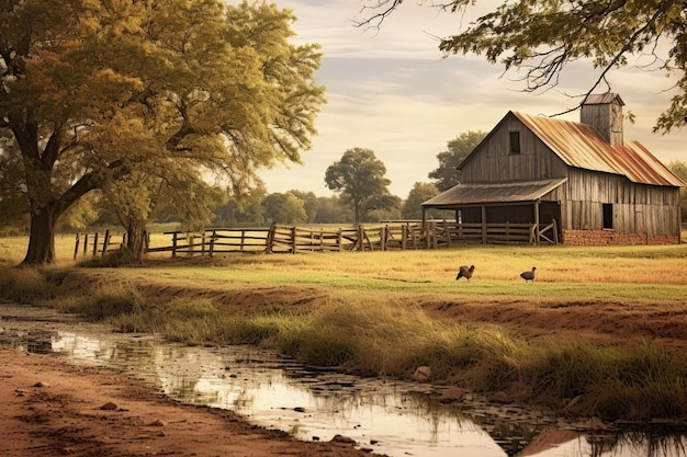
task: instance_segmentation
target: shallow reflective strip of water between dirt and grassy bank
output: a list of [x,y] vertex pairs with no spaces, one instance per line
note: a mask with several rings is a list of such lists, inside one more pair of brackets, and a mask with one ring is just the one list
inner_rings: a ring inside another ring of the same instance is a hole
[[134,374],[176,400],[229,409],[304,441],[338,434],[392,457],[687,456],[685,430],[666,424],[589,431],[587,421],[471,396],[444,403],[448,387],[342,375],[252,346],[187,347],[12,304],[0,304],[0,344]]

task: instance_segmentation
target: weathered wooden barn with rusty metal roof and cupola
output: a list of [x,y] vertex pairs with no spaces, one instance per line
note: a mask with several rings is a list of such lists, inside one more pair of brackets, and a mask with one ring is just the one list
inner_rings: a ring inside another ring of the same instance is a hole
[[[680,242],[685,183],[622,133],[624,103],[592,95],[581,122],[510,111],[463,160],[461,183],[423,203],[452,212],[453,239]],[[527,228],[529,237],[518,238]]]

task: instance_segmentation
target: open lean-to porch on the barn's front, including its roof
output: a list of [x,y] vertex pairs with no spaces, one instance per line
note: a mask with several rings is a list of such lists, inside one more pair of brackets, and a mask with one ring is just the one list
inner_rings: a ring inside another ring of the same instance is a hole
[[[455,241],[487,243],[558,244],[561,240],[561,205],[547,199],[566,179],[511,183],[468,183],[423,203],[427,213],[451,212],[450,224],[435,224]],[[428,235],[431,236],[431,235]]]

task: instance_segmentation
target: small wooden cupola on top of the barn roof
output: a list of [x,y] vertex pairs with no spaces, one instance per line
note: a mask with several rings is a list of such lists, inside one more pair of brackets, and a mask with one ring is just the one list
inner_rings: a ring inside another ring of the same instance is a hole
[[593,127],[611,146],[622,146],[622,99],[606,92],[589,95],[582,104],[579,122]]

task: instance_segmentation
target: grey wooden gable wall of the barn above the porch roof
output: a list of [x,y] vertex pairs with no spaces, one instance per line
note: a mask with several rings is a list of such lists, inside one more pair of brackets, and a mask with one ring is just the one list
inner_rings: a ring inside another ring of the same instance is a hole
[[[520,153],[510,155],[509,132],[520,132]],[[566,164],[516,117],[508,117],[463,165],[462,182],[509,182],[564,178]]]

